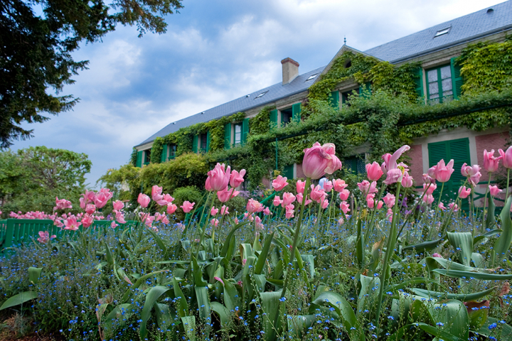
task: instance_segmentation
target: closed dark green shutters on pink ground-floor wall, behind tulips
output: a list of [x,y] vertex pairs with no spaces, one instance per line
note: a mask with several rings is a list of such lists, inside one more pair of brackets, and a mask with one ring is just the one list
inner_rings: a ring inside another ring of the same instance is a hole
[[[457,139],[450,141],[435,142],[434,144],[428,144],[429,148],[429,167],[437,165],[441,159],[444,159],[445,163],[453,158],[454,160],[454,173],[450,177],[447,183],[444,183],[442,201],[445,206],[448,207],[449,202],[452,202],[457,197],[457,191],[462,186],[466,178],[461,174],[462,164],[471,164],[469,157],[469,139]],[[439,199],[439,192],[441,191],[442,183],[437,182],[437,190],[434,191],[436,197],[435,204]],[[467,200],[462,200],[464,204],[463,208],[467,206]]]

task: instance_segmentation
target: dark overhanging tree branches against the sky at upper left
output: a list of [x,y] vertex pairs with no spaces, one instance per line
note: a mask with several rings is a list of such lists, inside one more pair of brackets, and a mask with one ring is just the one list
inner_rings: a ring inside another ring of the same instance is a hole
[[[41,16],[34,9],[41,6]],[[164,33],[163,16],[181,9],[181,0],[0,0],[0,148],[28,139],[33,130],[21,122],[43,122],[78,102],[58,96],[88,61],[75,61],[82,40],[93,43],[117,23]],[[55,95],[50,90],[55,90]]]

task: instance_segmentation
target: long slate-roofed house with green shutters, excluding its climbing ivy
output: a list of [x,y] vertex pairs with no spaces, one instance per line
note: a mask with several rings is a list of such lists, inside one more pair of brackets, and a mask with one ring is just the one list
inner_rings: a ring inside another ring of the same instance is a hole
[[[191,117],[181,119],[165,126],[154,135],[135,146],[137,151],[136,165],[141,167],[151,161],[151,146],[157,137],[175,133],[200,122],[208,122],[236,113],[244,113],[239,121],[228,122],[224,129],[224,148],[243,145],[247,140],[249,120],[255,117],[265,107],[272,106],[270,121],[272,126],[286,126],[291,121],[300,121],[301,106],[308,98],[311,87],[319,82],[344,53],[364,55],[374,60],[385,61],[400,67],[410,63],[420,65],[417,71],[417,97],[425,103],[443,103],[457,100],[462,95],[464,80],[461,77],[460,65],[456,58],[464,48],[479,42],[503,43],[512,31],[512,1],[506,1],[481,11],[454,18],[451,21],[439,23],[423,31],[413,33],[389,43],[359,51],[348,45],[343,45],[334,55],[331,62],[316,70],[303,74],[299,73],[299,63],[291,58],[281,60],[282,82],[247,94],[231,102],[221,104]],[[351,60],[345,60],[344,67],[351,67]],[[512,76],[512,75],[511,75]],[[371,91],[371,82],[358,83],[354,77],[338,82],[331,90],[330,102],[334,107],[350,105],[350,96],[356,91],[363,93]],[[482,89],[482,91],[485,91]],[[483,150],[504,148],[508,141],[508,126],[498,126],[484,131],[475,131],[466,127],[441,131],[439,134],[422,136],[414,140],[409,156],[412,159],[412,176],[420,180],[422,173],[433,166],[441,158],[455,161],[458,169],[462,163],[483,165]],[[179,141],[178,143],[179,144]],[[195,153],[210,150],[210,131],[193,136],[191,151]],[[356,148],[357,153],[365,153],[365,146]],[[176,155],[176,144],[165,145],[161,150],[160,161],[168,161]],[[354,172],[364,172],[364,161],[360,157],[345,158],[345,165]],[[447,187],[452,190],[459,185],[462,175],[454,172]],[[484,172],[483,172],[484,173]],[[284,175],[288,178],[302,177],[302,166],[293,164],[284,167]],[[487,180],[486,174],[482,181]],[[457,187],[458,188],[458,187]],[[486,183],[479,191],[485,191]]]

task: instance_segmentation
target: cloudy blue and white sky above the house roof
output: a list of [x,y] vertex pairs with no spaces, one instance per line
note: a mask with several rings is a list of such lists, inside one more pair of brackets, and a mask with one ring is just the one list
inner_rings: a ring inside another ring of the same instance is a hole
[[86,153],[88,187],[129,162],[132,147],[167,124],[282,80],[292,58],[299,73],[327,65],[343,45],[367,50],[498,4],[499,0],[183,0],[166,16],[167,33],[118,26],[100,43],[82,44],[75,60],[88,70],[62,94],[73,111],[23,124],[29,146]]

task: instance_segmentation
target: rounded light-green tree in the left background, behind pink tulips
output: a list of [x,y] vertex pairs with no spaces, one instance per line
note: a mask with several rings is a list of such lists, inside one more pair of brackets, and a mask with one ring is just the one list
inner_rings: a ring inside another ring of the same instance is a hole
[[91,161],[84,153],[44,146],[0,153],[0,210],[52,212],[55,197],[73,202],[85,190]]

